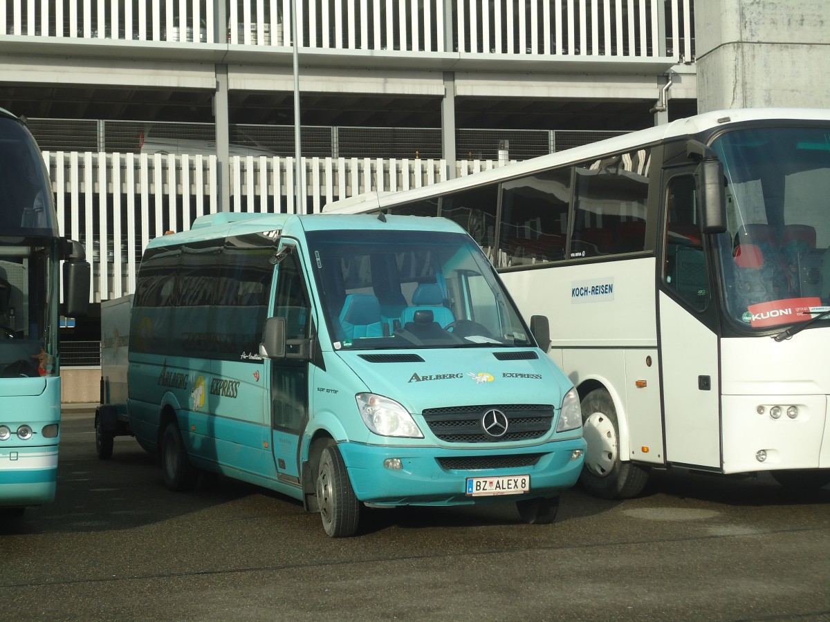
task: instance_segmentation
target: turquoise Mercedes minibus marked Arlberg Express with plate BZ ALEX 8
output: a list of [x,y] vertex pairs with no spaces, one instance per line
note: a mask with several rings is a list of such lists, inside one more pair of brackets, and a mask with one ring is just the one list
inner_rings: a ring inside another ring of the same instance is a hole
[[452,221],[202,216],[145,250],[129,431],[168,488],[259,484],[332,537],[366,506],[510,500],[551,522],[585,444],[548,341]]

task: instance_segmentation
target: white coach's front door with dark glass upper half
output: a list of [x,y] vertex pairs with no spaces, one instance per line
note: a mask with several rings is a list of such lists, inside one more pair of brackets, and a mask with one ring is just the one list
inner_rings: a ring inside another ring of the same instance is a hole
[[720,470],[717,317],[692,173],[664,173],[658,321],[666,462]]

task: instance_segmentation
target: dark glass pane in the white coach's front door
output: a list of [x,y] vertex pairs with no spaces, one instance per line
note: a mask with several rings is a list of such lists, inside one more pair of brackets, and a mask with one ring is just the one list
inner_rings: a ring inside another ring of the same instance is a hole
[[709,273],[696,218],[695,178],[672,177],[666,187],[666,245],[663,281],[668,289],[702,311],[709,303]]

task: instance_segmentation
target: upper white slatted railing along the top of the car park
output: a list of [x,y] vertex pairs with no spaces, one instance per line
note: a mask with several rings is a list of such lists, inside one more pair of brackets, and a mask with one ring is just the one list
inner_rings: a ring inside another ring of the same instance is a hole
[[[291,46],[287,17],[293,3],[0,0],[5,25],[0,36]],[[296,5],[303,48],[694,59],[692,0],[298,0]],[[218,23],[222,13],[227,24]]]

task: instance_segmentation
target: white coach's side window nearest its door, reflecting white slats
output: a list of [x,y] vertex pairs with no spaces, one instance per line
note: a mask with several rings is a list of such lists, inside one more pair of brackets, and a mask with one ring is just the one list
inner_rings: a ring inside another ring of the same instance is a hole
[[577,166],[572,258],[645,249],[649,163],[639,149]]

